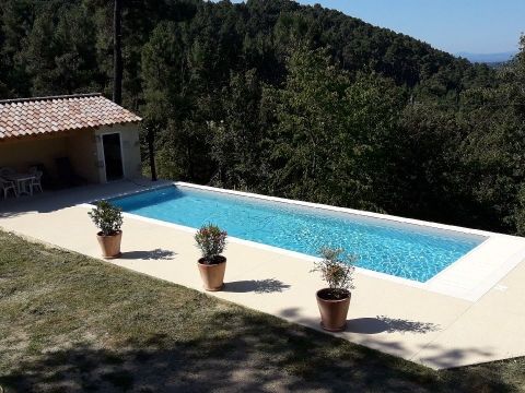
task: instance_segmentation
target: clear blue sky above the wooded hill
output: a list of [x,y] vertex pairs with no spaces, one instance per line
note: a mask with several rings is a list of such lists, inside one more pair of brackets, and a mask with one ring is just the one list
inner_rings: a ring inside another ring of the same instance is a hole
[[[238,2],[238,1],[235,1]],[[525,0],[300,0],[319,3],[453,53],[517,50]]]

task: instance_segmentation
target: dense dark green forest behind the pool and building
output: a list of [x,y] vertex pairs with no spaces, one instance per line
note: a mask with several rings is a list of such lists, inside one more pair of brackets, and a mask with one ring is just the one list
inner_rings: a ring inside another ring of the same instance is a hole
[[[525,38],[490,68],[319,5],[125,0],[144,174],[525,235]],[[113,2],[0,0],[0,98],[113,88]]]

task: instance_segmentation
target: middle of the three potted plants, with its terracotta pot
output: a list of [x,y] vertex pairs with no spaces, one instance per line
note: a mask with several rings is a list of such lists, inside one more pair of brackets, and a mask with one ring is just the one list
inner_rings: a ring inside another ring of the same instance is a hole
[[224,286],[224,272],[226,271],[226,259],[221,252],[226,246],[228,234],[217,225],[207,224],[202,226],[195,240],[202,253],[197,265],[206,290],[217,291]]

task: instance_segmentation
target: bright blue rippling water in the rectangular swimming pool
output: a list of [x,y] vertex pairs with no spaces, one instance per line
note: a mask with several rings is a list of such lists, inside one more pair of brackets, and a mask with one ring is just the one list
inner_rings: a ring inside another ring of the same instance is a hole
[[178,186],[112,202],[125,212],[192,228],[213,223],[230,236],[310,255],[317,255],[323,246],[342,248],[358,257],[360,267],[418,282],[430,279],[485,240],[389,219]]

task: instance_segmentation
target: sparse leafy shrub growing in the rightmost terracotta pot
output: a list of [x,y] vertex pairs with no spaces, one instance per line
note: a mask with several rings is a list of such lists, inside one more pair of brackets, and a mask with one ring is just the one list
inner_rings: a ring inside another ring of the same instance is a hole
[[340,258],[342,249],[324,247],[319,251],[323,260],[315,262],[314,272],[320,272],[323,279],[328,284],[334,299],[342,299],[353,289],[353,265],[357,257],[350,254],[346,260]]

